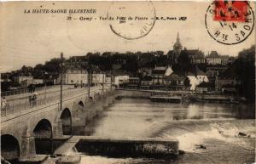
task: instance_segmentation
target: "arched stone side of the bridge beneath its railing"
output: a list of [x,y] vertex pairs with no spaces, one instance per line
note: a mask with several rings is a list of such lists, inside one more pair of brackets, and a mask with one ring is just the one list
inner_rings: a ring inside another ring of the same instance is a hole
[[20,110],[1,120],[1,156],[9,161],[29,161],[38,154],[51,154],[53,141],[65,135],[81,135],[87,122],[113,102],[109,87],[82,90],[62,100]]

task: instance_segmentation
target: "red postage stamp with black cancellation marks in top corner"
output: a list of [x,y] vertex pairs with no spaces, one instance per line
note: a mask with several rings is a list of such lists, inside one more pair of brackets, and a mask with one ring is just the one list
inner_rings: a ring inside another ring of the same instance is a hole
[[213,20],[247,21],[248,4],[246,1],[216,0]]

